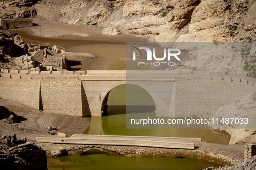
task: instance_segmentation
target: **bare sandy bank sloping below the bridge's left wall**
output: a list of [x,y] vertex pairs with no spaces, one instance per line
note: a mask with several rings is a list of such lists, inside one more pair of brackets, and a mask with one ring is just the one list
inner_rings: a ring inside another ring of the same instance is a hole
[[89,126],[89,121],[83,117],[39,111],[4,99],[0,99],[0,105],[4,105],[21,120],[20,123],[15,124],[5,123],[6,119],[0,120],[0,135],[16,133],[17,139],[26,137],[28,140],[34,141],[36,136],[52,136],[46,132],[48,127],[57,127],[56,134],[62,132],[70,136],[82,134]]

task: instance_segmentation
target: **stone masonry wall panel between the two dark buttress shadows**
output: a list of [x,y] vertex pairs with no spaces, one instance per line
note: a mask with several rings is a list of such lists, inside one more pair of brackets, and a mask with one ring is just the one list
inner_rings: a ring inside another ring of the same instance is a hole
[[41,80],[41,97],[43,110],[85,116],[80,80]]

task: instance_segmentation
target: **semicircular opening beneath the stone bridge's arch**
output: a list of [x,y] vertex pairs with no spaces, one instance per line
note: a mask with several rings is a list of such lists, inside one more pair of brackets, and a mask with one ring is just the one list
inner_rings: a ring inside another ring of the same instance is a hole
[[124,83],[112,88],[101,104],[102,116],[128,113],[155,112],[151,94],[139,85]]

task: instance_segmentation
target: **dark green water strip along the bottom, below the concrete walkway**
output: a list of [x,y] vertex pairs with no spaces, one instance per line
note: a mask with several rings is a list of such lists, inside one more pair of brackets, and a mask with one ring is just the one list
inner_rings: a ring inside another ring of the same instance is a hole
[[171,157],[126,157],[106,154],[48,159],[49,170],[203,170],[219,167],[209,161]]

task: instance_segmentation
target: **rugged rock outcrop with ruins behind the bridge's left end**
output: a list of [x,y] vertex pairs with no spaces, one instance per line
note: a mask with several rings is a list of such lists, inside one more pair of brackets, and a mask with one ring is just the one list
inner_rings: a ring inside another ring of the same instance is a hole
[[56,45],[25,44],[17,33],[0,31],[1,69],[46,70],[49,66],[66,68],[64,48]]

